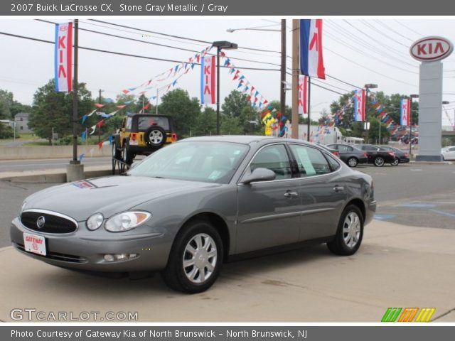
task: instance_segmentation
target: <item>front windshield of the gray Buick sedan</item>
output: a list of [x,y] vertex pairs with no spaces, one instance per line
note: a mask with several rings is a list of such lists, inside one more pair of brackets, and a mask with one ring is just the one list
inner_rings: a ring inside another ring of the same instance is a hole
[[182,141],[161,148],[128,171],[128,175],[229,183],[248,151],[245,144]]

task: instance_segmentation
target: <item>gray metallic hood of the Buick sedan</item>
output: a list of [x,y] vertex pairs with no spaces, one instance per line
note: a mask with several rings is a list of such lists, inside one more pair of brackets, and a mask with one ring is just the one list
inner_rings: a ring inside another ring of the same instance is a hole
[[24,210],[50,210],[78,222],[100,212],[110,217],[143,202],[176,193],[188,193],[220,185],[141,176],[111,176],[58,185],[26,199]]

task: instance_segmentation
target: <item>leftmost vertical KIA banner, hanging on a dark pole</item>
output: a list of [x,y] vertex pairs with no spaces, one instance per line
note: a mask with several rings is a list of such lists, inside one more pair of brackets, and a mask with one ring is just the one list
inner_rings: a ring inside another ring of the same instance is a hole
[[73,23],[55,24],[55,91],[72,90]]

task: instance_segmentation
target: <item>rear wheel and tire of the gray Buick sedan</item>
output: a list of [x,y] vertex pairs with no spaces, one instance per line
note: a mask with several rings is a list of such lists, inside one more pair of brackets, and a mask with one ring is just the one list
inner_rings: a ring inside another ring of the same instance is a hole
[[363,238],[363,215],[355,205],[349,205],[343,211],[335,239],[327,243],[333,254],[349,256],[355,254]]

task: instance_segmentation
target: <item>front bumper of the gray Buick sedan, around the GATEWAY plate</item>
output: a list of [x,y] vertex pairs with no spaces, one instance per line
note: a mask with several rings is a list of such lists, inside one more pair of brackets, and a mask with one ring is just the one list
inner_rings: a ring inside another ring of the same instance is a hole
[[[100,231],[95,236],[83,225],[80,222],[77,230],[70,234],[45,234],[27,229],[15,218],[11,222],[11,243],[27,256],[55,266],[82,271],[160,271],[167,264],[171,240],[164,233],[122,235]],[[45,237],[46,256],[25,251],[24,232]],[[105,254],[137,256],[127,260],[106,261]]]

